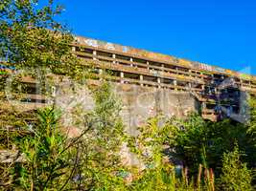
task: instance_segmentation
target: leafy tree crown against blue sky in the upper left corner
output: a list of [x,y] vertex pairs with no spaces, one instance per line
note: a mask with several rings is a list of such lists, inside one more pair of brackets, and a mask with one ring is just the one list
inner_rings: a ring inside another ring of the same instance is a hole
[[57,22],[61,11],[53,0],[1,1],[0,57],[18,69],[72,71],[77,62],[70,47],[74,39]]

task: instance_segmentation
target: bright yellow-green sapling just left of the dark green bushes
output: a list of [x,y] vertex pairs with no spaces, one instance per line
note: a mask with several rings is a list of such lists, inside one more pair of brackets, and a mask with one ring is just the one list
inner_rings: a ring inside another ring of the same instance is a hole
[[129,140],[131,151],[145,166],[132,172],[136,179],[130,185],[131,190],[175,190],[174,166],[164,154],[167,126],[160,125],[162,119],[150,118],[147,125],[139,127],[139,135]]

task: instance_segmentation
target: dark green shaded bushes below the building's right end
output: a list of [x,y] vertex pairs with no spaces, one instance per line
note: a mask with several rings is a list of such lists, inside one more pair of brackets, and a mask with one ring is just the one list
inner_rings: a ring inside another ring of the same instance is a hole
[[196,175],[198,165],[213,168],[219,176],[221,173],[221,158],[226,151],[231,151],[237,142],[244,151],[243,159],[253,166],[255,147],[247,126],[225,119],[219,122],[203,120],[192,114],[186,119],[170,120],[168,144],[174,148],[173,156],[184,162],[191,175]]

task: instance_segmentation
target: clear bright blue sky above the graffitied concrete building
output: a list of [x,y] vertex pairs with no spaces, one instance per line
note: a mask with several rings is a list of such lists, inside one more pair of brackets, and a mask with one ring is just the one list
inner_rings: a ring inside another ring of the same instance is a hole
[[256,74],[255,0],[58,2],[76,34]]

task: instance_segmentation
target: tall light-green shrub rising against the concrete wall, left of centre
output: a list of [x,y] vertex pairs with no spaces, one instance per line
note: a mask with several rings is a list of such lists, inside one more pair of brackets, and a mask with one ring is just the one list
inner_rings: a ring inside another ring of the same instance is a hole
[[78,187],[85,190],[124,190],[126,185],[119,172],[124,171],[120,150],[125,138],[124,126],[119,116],[121,104],[112,93],[109,83],[103,82],[91,89],[95,108],[80,113],[86,121],[86,134],[81,138],[80,169],[82,176]]

